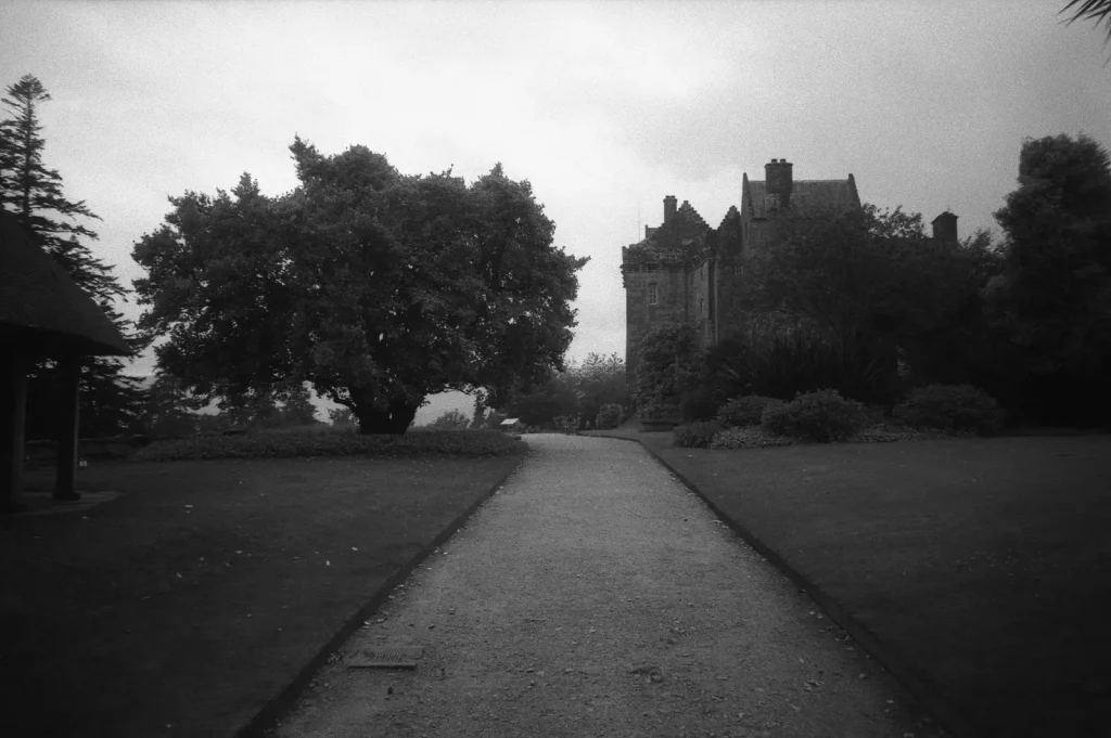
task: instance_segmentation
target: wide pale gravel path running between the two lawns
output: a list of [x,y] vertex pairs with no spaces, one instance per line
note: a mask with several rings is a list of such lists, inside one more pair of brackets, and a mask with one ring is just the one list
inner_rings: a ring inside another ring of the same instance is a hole
[[524,465],[273,734],[927,738],[894,681],[637,444],[527,436]]

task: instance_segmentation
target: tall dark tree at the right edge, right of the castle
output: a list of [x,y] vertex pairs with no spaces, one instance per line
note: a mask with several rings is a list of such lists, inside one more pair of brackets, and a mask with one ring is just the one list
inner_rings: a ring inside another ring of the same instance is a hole
[[995,213],[1002,273],[990,320],[1010,337],[1017,393],[1043,422],[1104,422],[1111,410],[1111,165],[1094,140],[1029,139],[1019,188]]

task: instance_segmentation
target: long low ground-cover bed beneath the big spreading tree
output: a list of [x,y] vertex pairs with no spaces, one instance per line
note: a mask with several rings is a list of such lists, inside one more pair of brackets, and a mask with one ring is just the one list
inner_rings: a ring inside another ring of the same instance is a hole
[[242,436],[194,436],[158,441],[132,461],[172,462],[206,458],[292,458],[297,456],[502,456],[524,444],[499,431],[414,429],[406,435],[331,433],[257,433]]

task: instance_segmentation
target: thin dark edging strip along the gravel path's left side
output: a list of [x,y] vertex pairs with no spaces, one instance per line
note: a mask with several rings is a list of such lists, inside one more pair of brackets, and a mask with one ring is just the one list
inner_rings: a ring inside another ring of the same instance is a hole
[[264,738],[274,728],[278,727],[278,721],[281,720],[297,704],[301,695],[308,688],[312,681],[312,677],[321,668],[328,665],[328,658],[347,643],[359,628],[362,627],[363,621],[369,619],[378,608],[381,607],[387,598],[393,593],[397,586],[403,583],[410,574],[413,573],[417,567],[419,567],[432,553],[442,546],[451,536],[456,535],[461,527],[471,518],[478,509],[487,503],[493,495],[501,489],[509,482],[510,477],[517,474],[524,463],[529,459],[531,455],[531,449],[526,451],[521,454],[521,459],[517,463],[513,468],[507,472],[497,483],[490,486],[484,493],[482,493],[478,499],[476,499],[467,509],[459,514],[456,519],[448,524],[431,543],[421,550],[417,552],[412,558],[409,559],[400,569],[393,573],[393,575],[388,578],[382,586],[380,586],[373,595],[371,595],[370,600],[366,605],[360,607],[354,615],[352,615],[343,625],[340,626],[331,638],[321,647],[317,655],[313,656],[309,661],[301,667],[297,675],[290,680],[286,688],[282,689],[278,695],[270,699],[266,706],[259,710],[253,718],[247,725],[240,726],[232,732],[233,738]]

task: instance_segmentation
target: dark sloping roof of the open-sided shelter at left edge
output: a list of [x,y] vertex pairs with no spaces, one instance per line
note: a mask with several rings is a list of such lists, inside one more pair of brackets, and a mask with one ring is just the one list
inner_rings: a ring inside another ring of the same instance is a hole
[[82,355],[131,353],[92,297],[0,211],[0,336],[11,335]]

